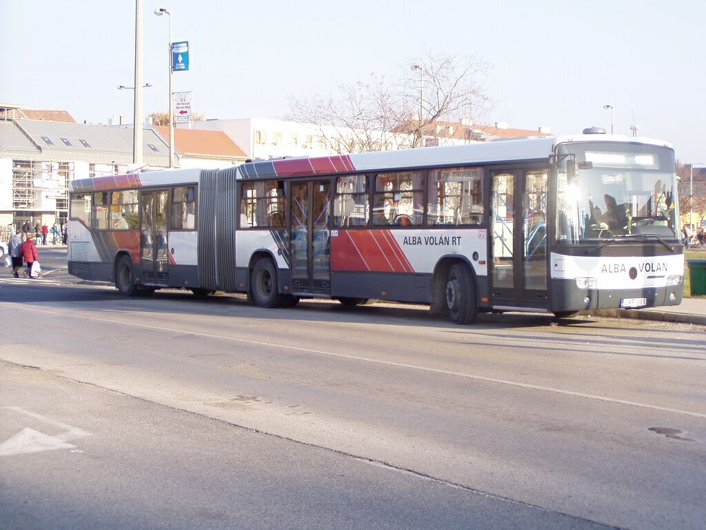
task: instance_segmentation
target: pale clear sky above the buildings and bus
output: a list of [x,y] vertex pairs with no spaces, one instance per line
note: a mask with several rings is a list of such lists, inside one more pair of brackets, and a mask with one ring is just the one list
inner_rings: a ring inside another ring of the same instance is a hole
[[[0,102],[66,109],[77,121],[131,120],[133,0],[0,0]],[[281,118],[289,95],[329,94],[415,57],[479,54],[490,122],[555,134],[586,126],[672,143],[706,163],[704,0],[143,0],[145,115],[167,111],[167,17],[188,40],[207,118]]]

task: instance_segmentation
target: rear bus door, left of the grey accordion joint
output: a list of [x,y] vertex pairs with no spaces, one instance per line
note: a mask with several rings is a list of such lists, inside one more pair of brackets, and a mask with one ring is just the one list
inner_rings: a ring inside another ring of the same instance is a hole
[[169,280],[169,192],[143,192],[140,197],[140,256],[142,277],[148,281]]

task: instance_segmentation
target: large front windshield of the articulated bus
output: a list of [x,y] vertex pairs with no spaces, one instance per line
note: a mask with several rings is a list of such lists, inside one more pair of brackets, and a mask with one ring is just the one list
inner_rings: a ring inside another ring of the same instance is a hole
[[678,240],[674,151],[637,143],[558,146],[556,240]]

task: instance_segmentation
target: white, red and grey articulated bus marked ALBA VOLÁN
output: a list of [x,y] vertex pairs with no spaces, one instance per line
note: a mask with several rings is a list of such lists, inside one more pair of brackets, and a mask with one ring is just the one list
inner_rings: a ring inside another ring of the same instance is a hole
[[68,271],[127,296],[390,300],[457,324],[678,305],[676,189],[669,144],[606,134],[79,179]]

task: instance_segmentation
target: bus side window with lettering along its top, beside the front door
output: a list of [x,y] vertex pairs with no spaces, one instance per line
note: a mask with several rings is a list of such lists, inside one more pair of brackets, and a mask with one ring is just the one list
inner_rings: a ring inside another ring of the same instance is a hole
[[482,223],[482,184],[482,167],[445,167],[429,171],[426,224],[433,226]]

